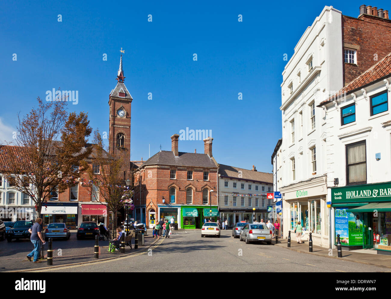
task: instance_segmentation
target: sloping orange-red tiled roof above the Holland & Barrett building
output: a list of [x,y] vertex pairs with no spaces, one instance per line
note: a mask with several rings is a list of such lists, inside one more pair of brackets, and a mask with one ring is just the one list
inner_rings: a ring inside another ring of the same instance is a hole
[[355,90],[361,89],[364,87],[364,85],[377,80],[382,80],[382,78],[389,75],[391,75],[391,53],[380,60],[377,64],[371,66],[371,68],[364,71],[364,73],[343,87],[343,89],[341,89],[337,94],[321,102],[319,105],[317,105],[317,107],[321,107],[326,103],[333,101],[335,98],[339,98],[339,96],[343,95],[344,93],[352,93]]

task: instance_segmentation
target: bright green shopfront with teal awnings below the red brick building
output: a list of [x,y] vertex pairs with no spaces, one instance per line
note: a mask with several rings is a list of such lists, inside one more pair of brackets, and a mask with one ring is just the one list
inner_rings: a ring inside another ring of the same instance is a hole
[[216,222],[219,216],[217,206],[212,206],[212,213],[210,210],[210,206],[181,206],[181,228],[201,228],[205,218],[212,218],[212,222]]

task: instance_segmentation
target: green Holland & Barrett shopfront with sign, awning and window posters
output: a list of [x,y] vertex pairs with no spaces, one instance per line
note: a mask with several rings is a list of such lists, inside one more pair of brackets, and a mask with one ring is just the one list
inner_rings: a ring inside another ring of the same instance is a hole
[[391,254],[391,182],[331,188],[335,244]]

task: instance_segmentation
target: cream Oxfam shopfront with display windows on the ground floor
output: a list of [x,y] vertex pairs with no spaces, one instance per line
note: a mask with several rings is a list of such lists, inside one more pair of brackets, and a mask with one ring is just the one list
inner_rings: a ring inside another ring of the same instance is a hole
[[329,209],[327,208],[327,188],[324,178],[298,183],[280,188],[282,203],[282,233],[296,240],[294,229],[298,222],[303,226],[303,240],[312,233],[314,245],[329,247]]

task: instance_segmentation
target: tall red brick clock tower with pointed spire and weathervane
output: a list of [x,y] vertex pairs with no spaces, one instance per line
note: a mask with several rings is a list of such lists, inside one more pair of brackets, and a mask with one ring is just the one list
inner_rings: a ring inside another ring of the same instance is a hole
[[[124,156],[124,166],[129,171],[130,161],[130,119],[132,96],[124,84],[124,71],[122,69],[122,54],[120,67],[116,80],[117,85],[109,94],[109,152],[113,155]],[[125,180],[128,179],[127,175]]]

